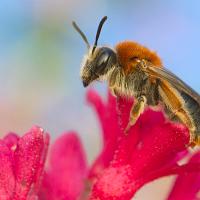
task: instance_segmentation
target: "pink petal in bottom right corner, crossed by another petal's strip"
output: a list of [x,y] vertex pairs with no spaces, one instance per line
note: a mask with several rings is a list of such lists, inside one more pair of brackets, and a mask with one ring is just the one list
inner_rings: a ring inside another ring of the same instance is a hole
[[[200,152],[196,153],[188,165],[191,163],[199,163],[200,165]],[[199,199],[200,191],[200,171],[198,172],[187,172],[180,174],[170,192],[168,200],[188,200],[188,199]]]

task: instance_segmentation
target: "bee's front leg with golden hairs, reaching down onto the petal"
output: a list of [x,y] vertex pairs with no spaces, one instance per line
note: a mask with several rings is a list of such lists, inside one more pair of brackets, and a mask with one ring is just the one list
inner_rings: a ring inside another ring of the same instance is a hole
[[138,97],[136,100],[136,103],[131,108],[130,118],[129,118],[128,125],[125,129],[125,134],[127,134],[129,129],[136,123],[140,114],[143,113],[145,105],[146,105],[146,97],[145,96]]

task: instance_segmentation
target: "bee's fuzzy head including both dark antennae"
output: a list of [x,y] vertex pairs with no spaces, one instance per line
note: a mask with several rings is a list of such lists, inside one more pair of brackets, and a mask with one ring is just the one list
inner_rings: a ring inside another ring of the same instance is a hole
[[97,46],[101,28],[106,19],[107,17],[105,16],[100,21],[97,29],[96,39],[92,47],[90,47],[86,36],[83,34],[80,28],[76,25],[75,22],[73,22],[74,28],[78,31],[78,33],[80,33],[88,47],[88,54],[85,56],[81,68],[81,79],[83,81],[84,87],[88,86],[94,80],[100,80],[105,77],[105,75],[117,62],[117,55],[114,50],[108,47]]

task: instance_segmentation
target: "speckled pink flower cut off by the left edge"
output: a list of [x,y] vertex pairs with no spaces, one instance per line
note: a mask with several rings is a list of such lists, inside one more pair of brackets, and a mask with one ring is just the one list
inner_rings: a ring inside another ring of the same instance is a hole
[[49,136],[33,127],[23,137],[14,133],[0,140],[0,199],[37,199]]

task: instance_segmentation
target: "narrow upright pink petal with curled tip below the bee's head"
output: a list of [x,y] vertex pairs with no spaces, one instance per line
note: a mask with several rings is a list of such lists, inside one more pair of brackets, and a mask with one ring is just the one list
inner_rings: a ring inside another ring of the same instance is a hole
[[87,93],[88,102],[94,107],[102,127],[103,147],[99,156],[93,163],[89,178],[94,179],[104,168],[109,166],[117,147],[120,127],[116,111],[116,99],[108,94],[108,100],[103,102],[101,97],[93,90]]

